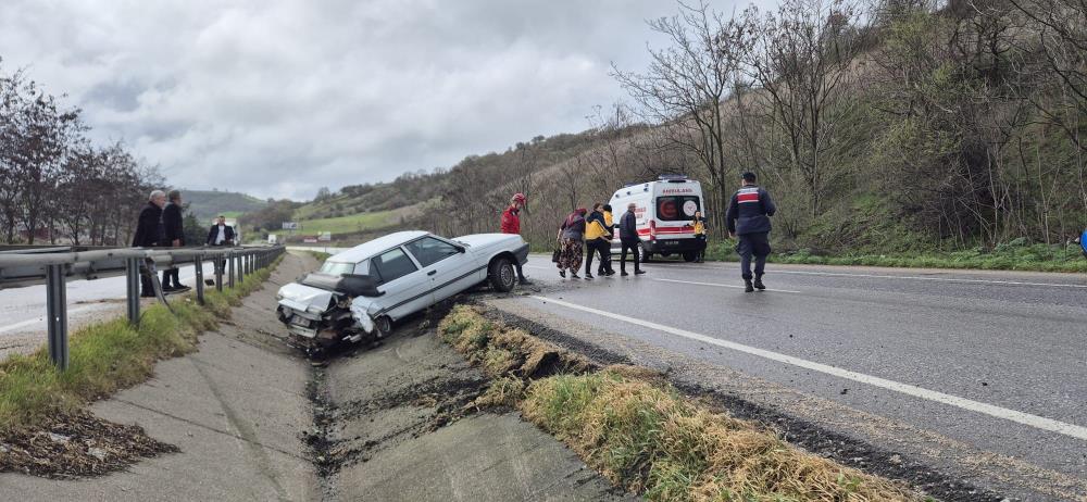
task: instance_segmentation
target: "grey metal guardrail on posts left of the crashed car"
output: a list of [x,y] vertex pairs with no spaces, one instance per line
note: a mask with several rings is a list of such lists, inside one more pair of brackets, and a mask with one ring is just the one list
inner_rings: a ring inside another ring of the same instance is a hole
[[[61,369],[66,369],[67,354],[67,287],[73,278],[97,279],[126,276],[128,322],[139,325],[140,268],[153,268],[191,263],[196,266],[197,301],[204,303],[203,262],[214,264],[215,289],[233,288],[245,276],[263,268],[286,249],[283,246],[239,248],[71,248],[16,247],[0,249],[0,289],[46,285],[46,324],[49,331],[49,356]],[[145,269],[143,273],[148,271]],[[165,299],[163,298],[163,302]],[[168,308],[170,304],[166,303]]]

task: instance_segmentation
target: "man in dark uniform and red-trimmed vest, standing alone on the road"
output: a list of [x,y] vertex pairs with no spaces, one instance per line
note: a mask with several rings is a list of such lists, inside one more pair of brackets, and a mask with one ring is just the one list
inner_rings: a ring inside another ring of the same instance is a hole
[[[766,256],[770,255],[770,217],[777,211],[770,193],[755,185],[754,173],[744,173],[742,186],[733,194],[728,204],[725,221],[728,224],[728,236],[739,236],[736,252],[740,255],[740,272],[744,276],[745,291],[755,288],[766,289],[762,284],[762,274],[766,268]],[[751,256],[754,255],[754,284],[751,283]]]

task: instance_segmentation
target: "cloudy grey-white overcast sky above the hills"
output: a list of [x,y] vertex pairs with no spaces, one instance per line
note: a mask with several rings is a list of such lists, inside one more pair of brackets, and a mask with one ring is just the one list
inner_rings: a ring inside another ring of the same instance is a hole
[[[732,11],[733,2],[715,3]],[[741,2],[746,4],[746,2]],[[670,0],[3,0],[0,58],[174,186],[310,199],[588,127]]]

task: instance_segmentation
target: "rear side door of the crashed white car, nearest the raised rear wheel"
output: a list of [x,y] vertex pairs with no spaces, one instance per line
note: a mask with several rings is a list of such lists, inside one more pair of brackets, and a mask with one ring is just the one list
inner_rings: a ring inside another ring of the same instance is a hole
[[475,286],[486,278],[486,264],[477,264],[476,256],[463,246],[426,236],[404,244],[408,252],[430,277],[433,302],[437,303]]

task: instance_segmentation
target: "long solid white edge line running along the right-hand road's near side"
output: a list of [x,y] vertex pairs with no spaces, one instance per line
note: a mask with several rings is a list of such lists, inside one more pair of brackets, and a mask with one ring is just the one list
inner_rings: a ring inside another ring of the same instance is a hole
[[1046,418],[1042,416],[1032,415],[1028,413],[1019,412],[1015,410],[1009,410],[1005,407],[996,406],[992,404],[987,404],[978,401],[973,401],[965,398],[959,398],[957,396],[946,394],[944,392],[937,392],[935,390],[928,390],[921,387],[912,386],[909,384],[902,384],[894,380],[888,380],[885,378],[879,378],[871,375],[865,375],[863,373],[851,372],[849,369],[842,369],[839,367],[834,367],[830,365],[816,363],[813,361],[803,360],[800,357],[794,357],[791,355],[782,354],[778,352],[773,352],[764,349],[759,349],[755,347],[745,346],[742,343],[736,343],[727,340],[721,340],[717,338],[708,337],[705,335],[699,335],[697,332],[687,331],[679,328],[674,328],[671,326],[664,326],[649,321],[642,321],[635,317],[628,317],[622,314],[615,314],[611,312],[605,312],[589,306],[583,306],[575,303],[564,302],[562,300],[555,300],[553,298],[534,296],[533,298],[554,303],[557,305],[565,306],[567,309],[579,310],[583,312],[588,312],[590,314],[611,317],[613,319],[623,321],[625,323],[642,326],[650,329],[655,329],[658,331],[663,331],[672,335],[676,335],[683,338],[701,341],[703,343],[709,343],[711,346],[717,346],[725,349],[735,350],[738,352],[744,352],[751,355],[757,355],[760,357],[769,359],[771,361],[776,361],[779,363],[791,364],[794,366],[802,367],[805,369],[811,369],[813,372],[820,372],[827,375],[836,376],[838,378],[845,378],[847,380],[852,380],[873,387],[878,387],[882,389],[892,390],[907,396],[912,396],[914,398],[921,398],[928,401],[934,401],[963,410],[969,410],[972,412],[980,413],[984,415],[989,415],[997,418],[1003,418],[1005,421],[1015,422],[1017,424],[1023,424],[1036,429],[1048,430],[1050,432],[1057,432],[1071,438],[1087,441],[1087,427],[1082,427],[1074,424],[1067,424],[1064,422],[1058,422],[1052,418]]

